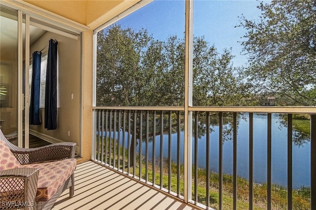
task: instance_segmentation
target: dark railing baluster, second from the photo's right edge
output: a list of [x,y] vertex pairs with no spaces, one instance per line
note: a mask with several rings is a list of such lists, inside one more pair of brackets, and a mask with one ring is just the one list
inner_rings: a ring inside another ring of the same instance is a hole
[[287,209],[292,210],[292,114],[287,114]]

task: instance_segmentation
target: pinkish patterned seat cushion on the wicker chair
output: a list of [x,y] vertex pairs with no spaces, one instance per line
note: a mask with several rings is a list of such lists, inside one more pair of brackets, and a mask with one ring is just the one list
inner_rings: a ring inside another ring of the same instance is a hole
[[22,165],[20,168],[40,169],[37,201],[49,200],[59,187],[74,173],[77,165],[75,158],[54,162]]

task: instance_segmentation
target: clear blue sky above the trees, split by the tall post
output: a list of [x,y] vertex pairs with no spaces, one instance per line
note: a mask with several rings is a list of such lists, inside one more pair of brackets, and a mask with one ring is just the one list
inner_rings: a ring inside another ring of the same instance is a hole
[[[246,56],[240,55],[242,46],[237,42],[245,34],[239,24],[238,16],[258,19],[260,10],[256,0],[195,0],[194,35],[205,36],[214,44],[218,52],[232,48],[234,66],[247,62]],[[135,30],[147,29],[155,39],[166,40],[170,35],[184,37],[185,0],[155,0],[136,12],[117,22],[123,28]]]

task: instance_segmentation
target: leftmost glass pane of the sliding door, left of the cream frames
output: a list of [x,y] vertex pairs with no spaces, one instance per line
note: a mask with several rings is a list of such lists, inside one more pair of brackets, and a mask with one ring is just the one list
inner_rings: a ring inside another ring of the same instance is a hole
[[[0,128],[4,135],[18,132],[19,24],[18,11],[0,6]],[[23,130],[23,129],[22,129]]]

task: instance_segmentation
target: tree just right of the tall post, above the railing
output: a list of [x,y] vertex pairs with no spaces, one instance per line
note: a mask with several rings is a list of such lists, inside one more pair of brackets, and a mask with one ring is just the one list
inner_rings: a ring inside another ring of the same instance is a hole
[[230,49],[217,52],[204,37],[195,37],[193,55],[193,101],[197,106],[255,105],[250,83],[244,83],[240,69],[233,67]]

